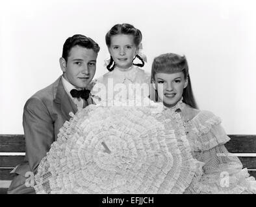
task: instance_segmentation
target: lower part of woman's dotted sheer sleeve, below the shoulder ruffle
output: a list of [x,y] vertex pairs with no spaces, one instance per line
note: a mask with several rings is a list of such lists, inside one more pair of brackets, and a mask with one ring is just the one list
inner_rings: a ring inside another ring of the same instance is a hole
[[238,157],[227,151],[222,144],[203,152],[196,152],[195,157],[205,162],[203,175],[194,179],[186,193],[241,194],[256,193],[256,181],[250,177]]

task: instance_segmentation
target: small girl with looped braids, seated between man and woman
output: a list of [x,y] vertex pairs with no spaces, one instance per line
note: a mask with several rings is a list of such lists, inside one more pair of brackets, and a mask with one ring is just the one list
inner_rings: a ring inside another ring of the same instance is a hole
[[[114,100],[123,92],[126,100],[131,93],[129,85],[150,82],[150,74],[140,69],[144,66],[146,58],[140,53],[142,33],[138,28],[129,24],[114,25],[107,32],[105,40],[110,54],[110,61],[107,63],[109,72],[96,80],[96,85],[91,91],[96,103]],[[142,63],[133,63],[135,58]],[[149,90],[145,90],[144,96],[148,95]]]

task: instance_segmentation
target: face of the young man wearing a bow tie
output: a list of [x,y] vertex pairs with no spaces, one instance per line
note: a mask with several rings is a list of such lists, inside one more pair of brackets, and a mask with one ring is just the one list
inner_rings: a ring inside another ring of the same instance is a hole
[[97,52],[75,45],[70,50],[68,61],[60,58],[64,78],[77,89],[85,88],[96,72]]

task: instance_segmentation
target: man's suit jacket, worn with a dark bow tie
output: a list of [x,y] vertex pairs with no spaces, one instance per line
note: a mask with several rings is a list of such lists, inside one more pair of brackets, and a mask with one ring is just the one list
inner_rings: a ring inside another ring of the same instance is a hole
[[[92,103],[89,97],[86,105]],[[61,76],[51,85],[35,93],[25,103],[23,129],[26,142],[25,160],[11,173],[16,173],[8,193],[34,193],[34,188],[26,187],[26,173],[36,173],[38,165],[51,144],[57,140],[60,127],[70,120],[70,112],[76,113],[77,106],[66,93]]]

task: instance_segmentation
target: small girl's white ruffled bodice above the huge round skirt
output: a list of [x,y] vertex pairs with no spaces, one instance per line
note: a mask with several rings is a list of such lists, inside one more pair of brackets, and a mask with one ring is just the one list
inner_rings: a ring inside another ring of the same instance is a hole
[[[96,79],[95,85],[91,90],[94,103],[113,103],[123,102],[129,105],[128,100],[138,100],[138,97],[145,98],[150,93],[150,74],[143,69],[133,65],[129,69],[115,67],[113,71],[107,72]],[[127,101],[127,102],[126,102]]]

